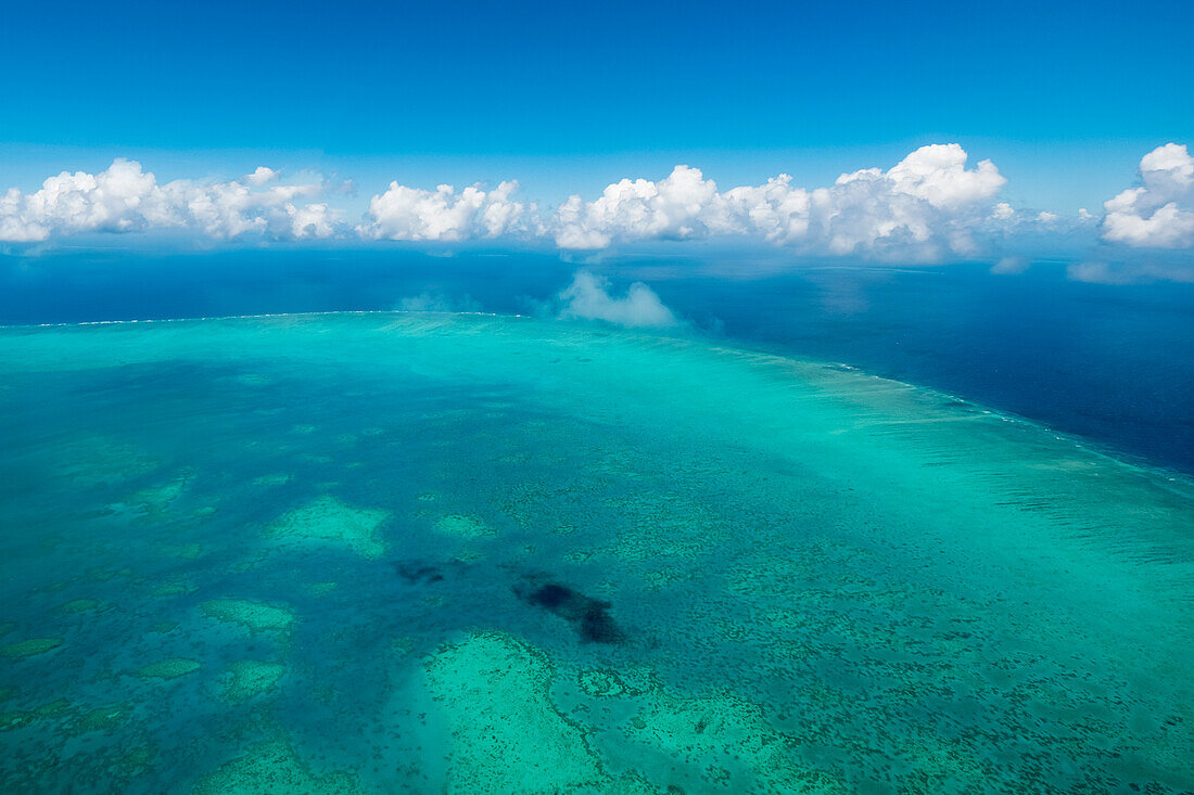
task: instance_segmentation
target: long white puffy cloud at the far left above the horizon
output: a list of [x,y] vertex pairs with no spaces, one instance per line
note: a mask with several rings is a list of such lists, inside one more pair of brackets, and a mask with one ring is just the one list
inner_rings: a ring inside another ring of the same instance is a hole
[[32,193],[10,189],[0,198],[0,241],[150,229],[192,229],[216,239],[248,233],[328,238],[336,233],[336,210],[300,201],[321,193],[321,183],[271,184],[276,181],[277,172],[259,167],[240,180],[159,184],[141,164],[117,159],[98,174],[79,171],[50,177]]

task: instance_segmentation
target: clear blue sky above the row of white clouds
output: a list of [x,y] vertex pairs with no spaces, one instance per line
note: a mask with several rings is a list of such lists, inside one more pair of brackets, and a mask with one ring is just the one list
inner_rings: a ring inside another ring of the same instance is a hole
[[356,220],[390,180],[812,189],[960,143],[1001,201],[1097,212],[1194,140],[1194,4],[1045,5],[10,4],[0,186],[269,165],[351,178]]

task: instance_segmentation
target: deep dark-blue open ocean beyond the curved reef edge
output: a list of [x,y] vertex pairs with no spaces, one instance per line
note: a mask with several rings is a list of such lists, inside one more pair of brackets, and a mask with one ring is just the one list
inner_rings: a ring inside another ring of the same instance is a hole
[[708,249],[593,264],[537,252],[279,249],[0,255],[0,323],[437,308],[549,312],[581,266],[651,284],[701,333],[850,364],[1194,473],[1194,284],[1070,281],[1061,264],[841,266]]

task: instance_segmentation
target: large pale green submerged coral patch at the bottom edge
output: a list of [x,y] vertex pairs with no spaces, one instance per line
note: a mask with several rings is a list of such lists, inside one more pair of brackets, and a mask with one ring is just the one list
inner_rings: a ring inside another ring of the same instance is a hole
[[[500,633],[474,634],[430,658],[427,686],[451,731],[450,790],[850,791],[802,762],[757,704],[730,692],[678,697],[646,671],[623,679],[586,670],[574,678],[581,701],[565,713],[552,697],[561,676],[542,652]],[[584,698],[624,717],[616,728],[586,726],[595,713]],[[605,759],[623,772],[610,772]]]

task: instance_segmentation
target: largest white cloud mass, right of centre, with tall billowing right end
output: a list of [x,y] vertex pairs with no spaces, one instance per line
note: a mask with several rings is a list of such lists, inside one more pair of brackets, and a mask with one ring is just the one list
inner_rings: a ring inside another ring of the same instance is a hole
[[676,166],[658,183],[609,185],[592,202],[572,196],[552,226],[561,248],[726,235],[814,253],[934,260],[973,253],[974,232],[998,212],[992,199],[1007,180],[990,160],[967,168],[967,159],[956,143],[933,144],[886,172],[842,174],[829,187],[794,186],[780,174],[725,192],[700,170]]

